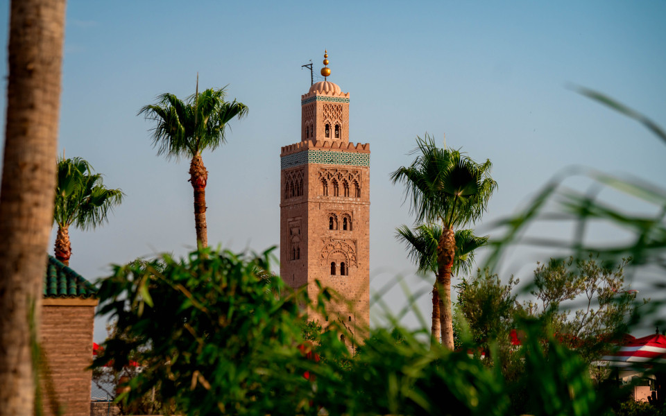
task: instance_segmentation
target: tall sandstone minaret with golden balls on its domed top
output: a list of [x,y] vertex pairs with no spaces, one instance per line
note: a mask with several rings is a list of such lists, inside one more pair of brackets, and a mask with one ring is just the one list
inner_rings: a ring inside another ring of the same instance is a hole
[[330,316],[308,311],[323,326],[336,319],[362,337],[370,320],[370,145],[349,141],[349,93],[321,75],[301,96],[300,142],[280,154],[280,275],[311,299],[322,286],[348,302]]

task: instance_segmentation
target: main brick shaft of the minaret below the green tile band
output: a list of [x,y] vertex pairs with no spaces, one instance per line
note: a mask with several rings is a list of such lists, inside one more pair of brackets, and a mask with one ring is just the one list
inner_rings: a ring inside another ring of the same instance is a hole
[[[301,196],[285,198],[287,177],[303,170],[304,192]],[[350,187],[345,196],[339,183],[339,196],[334,196],[332,186],[323,195],[321,175],[353,177],[359,184],[360,196]],[[351,176],[350,176],[351,175]],[[343,295],[349,304],[332,305],[331,315],[318,316],[309,311],[309,318],[325,324],[339,319],[355,333],[357,328],[367,328],[370,320],[370,169],[367,166],[334,164],[305,164],[282,171],[282,204],[280,205],[280,275],[294,288],[307,285],[308,294],[314,299],[318,288],[316,280]],[[330,219],[334,218],[334,229]],[[347,228],[343,229],[344,218]],[[293,248],[298,246],[298,258]],[[331,274],[331,263],[336,274]],[[341,263],[345,263],[346,275],[341,275]]]

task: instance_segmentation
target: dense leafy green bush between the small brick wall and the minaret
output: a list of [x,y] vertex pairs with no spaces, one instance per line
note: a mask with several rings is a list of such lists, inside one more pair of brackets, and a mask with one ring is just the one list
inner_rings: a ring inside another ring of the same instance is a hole
[[[297,368],[298,302],[266,291],[257,272],[268,270],[268,254],[203,250],[180,262],[164,255],[163,271],[116,266],[101,284],[99,313],[110,313],[125,336],[108,339],[94,366],[112,360],[119,370],[137,354],[144,370],[124,399],[155,387],[175,413],[307,412],[307,395],[298,394],[310,391]],[[277,277],[268,284],[284,291]]]

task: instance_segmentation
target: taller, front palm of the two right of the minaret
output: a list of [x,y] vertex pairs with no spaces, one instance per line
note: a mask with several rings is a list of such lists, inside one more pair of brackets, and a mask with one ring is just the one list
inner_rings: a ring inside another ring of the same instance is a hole
[[391,180],[404,184],[405,199],[409,198],[417,223],[442,227],[436,248],[440,322],[442,343],[453,349],[451,270],[456,257],[455,230],[481,218],[497,182],[490,177],[490,160],[477,164],[459,150],[438,148],[428,135],[417,137],[416,144],[414,162],[391,173]]

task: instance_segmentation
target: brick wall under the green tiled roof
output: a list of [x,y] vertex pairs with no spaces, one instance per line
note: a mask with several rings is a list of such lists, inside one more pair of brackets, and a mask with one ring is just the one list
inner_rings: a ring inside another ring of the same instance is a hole
[[90,414],[92,336],[96,301],[44,300],[40,338],[46,359],[42,363],[42,408],[44,416]]

